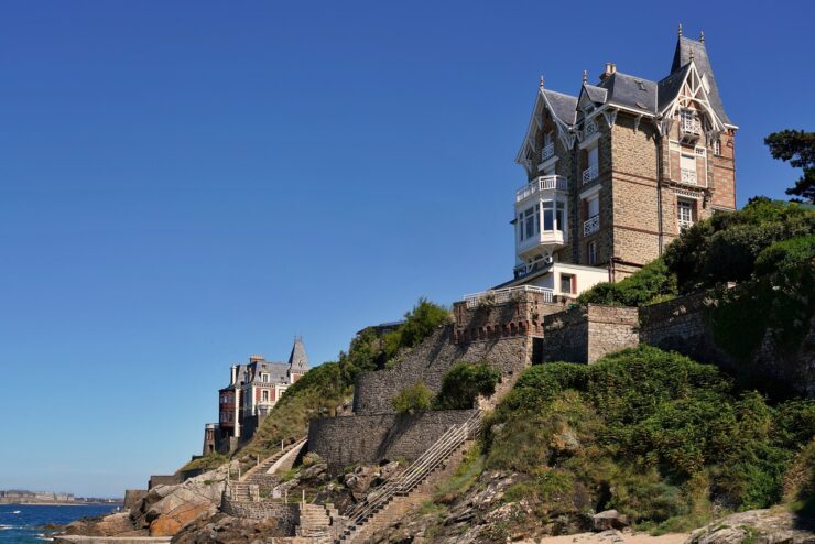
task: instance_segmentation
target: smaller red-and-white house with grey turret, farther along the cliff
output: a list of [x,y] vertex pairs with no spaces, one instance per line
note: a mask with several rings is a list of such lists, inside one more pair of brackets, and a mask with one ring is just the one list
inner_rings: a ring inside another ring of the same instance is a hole
[[229,369],[229,384],[218,391],[218,423],[204,432],[204,455],[230,451],[249,440],[286,389],[308,371],[303,338],[296,337],[287,362],[249,356]]

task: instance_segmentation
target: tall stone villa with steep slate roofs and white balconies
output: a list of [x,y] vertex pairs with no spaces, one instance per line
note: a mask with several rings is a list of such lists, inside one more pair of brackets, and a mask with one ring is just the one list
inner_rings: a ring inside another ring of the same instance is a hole
[[682,229],[736,209],[737,129],[704,33],[693,40],[682,26],[660,80],[615,63],[596,80],[584,72],[575,94],[541,77],[515,157],[524,183],[514,192],[512,276],[490,292],[573,298],[629,276]]

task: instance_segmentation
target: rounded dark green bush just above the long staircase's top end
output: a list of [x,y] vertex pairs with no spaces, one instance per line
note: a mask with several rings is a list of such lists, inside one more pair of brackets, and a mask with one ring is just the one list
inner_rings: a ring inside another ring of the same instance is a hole
[[480,394],[490,396],[501,381],[501,372],[488,362],[459,362],[444,374],[442,390],[433,402],[434,410],[471,409]]

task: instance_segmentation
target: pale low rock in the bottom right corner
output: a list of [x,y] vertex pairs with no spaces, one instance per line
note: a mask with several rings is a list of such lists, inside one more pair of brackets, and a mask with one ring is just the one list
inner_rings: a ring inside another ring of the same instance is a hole
[[783,509],[728,515],[691,533],[685,544],[815,544],[815,520]]

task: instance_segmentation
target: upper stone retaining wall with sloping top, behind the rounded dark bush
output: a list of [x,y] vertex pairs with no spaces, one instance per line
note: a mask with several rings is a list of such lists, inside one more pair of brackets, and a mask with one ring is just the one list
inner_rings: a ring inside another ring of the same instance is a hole
[[392,399],[403,389],[422,381],[437,393],[445,372],[458,361],[489,361],[511,381],[532,362],[533,339],[512,337],[453,344],[453,325],[436,330],[412,350],[403,353],[393,369],[365,372],[357,377],[354,413],[393,414]]

